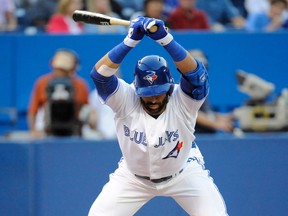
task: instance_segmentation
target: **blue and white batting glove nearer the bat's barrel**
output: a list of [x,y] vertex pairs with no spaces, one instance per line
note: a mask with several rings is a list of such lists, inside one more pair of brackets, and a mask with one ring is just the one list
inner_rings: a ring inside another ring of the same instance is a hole
[[144,17],[139,16],[136,19],[131,20],[128,35],[124,39],[124,44],[129,47],[135,47],[144,37],[143,28]]

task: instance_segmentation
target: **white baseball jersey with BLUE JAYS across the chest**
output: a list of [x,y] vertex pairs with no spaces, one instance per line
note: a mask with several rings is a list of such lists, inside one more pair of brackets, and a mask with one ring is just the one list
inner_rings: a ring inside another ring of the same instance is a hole
[[155,119],[144,111],[133,84],[119,79],[107,105],[116,113],[118,141],[128,169],[158,179],[179,172],[188,158],[201,160],[196,144],[191,147],[197,111],[203,101],[192,99],[175,85],[166,110]]

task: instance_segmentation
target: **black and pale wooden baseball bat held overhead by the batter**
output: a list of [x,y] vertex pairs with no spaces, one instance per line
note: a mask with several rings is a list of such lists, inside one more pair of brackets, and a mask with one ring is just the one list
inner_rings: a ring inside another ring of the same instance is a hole
[[[83,22],[89,23],[94,25],[122,25],[122,26],[129,26],[130,21],[119,19],[111,16],[107,16],[100,13],[94,13],[90,11],[84,10],[75,10],[72,16],[75,22]],[[149,31],[154,33],[158,30],[156,25],[152,26]]]

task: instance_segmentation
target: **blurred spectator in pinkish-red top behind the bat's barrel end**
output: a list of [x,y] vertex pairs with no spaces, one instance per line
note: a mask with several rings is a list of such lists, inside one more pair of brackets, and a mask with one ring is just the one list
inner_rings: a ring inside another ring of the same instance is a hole
[[82,0],[59,0],[57,11],[50,17],[47,32],[53,34],[80,34],[83,25],[75,22],[72,15],[83,8]]

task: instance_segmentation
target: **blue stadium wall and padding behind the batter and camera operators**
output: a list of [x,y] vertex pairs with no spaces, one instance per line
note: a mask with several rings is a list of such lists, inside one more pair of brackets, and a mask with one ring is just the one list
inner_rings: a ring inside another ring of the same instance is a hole
[[[200,48],[209,58],[211,103],[227,112],[247,96],[237,90],[238,69],[275,84],[275,95],[288,88],[287,33],[178,32],[187,49]],[[35,79],[49,72],[59,48],[80,56],[79,75],[93,88],[89,73],[97,61],[124,35],[0,35],[1,110],[16,110],[16,121],[1,113],[0,132],[26,130],[26,110]],[[166,52],[145,39],[121,67],[132,82],[136,61],[146,54],[167,58],[174,77],[179,74]],[[7,114],[7,115],[6,115]],[[288,135],[254,133],[199,136],[196,140],[219,186],[231,216],[284,216],[288,212]],[[120,157],[116,140],[79,138],[41,141],[0,141],[0,215],[87,215],[88,208]],[[137,215],[185,215],[170,199],[157,198]]]

